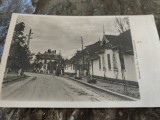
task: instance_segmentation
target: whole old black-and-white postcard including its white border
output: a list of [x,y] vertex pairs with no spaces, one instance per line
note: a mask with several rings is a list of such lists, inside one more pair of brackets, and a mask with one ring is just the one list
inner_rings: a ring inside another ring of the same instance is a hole
[[154,17],[13,14],[1,107],[160,106]]

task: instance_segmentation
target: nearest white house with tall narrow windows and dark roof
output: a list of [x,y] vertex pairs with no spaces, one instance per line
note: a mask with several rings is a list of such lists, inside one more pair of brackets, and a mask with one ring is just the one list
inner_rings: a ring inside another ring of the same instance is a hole
[[137,84],[130,30],[120,35],[104,35],[99,46],[99,51],[89,58],[91,75]]

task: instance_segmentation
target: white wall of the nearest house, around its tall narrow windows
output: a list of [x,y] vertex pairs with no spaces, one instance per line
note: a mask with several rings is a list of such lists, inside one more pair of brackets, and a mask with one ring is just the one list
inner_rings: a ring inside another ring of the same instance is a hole
[[[108,66],[107,54],[110,55],[111,69],[109,69]],[[117,62],[117,72],[114,71],[113,54],[115,55],[115,59]],[[106,49],[105,53],[100,54],[99,56],[101,58],[101,69],[99,68],[99,59],[93,60],[93,75],[100,77],[105,76],[106,78],[113,78],[113,79],[122,79],[121,63],[118,51]],[[103,56],[104,56],[104,63],[103,63]],[[125,79],[129,81],[136,81],[136,68],[135,68],[134,56],[124,55],[124,63],[125,63]],[[92,74],[91,65],[90,65],[90,73]]]

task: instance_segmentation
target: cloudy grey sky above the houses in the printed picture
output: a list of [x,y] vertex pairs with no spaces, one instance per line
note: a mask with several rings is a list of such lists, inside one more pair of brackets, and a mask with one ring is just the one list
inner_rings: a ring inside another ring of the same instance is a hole
[[81,36],[87,46],[102,40],[103,26],[105,34],[118,34],[113,17],[19,16],[18,22],[25,23],[25,34],[29,29],[34,33],[29,45],[32,53],[51,49],[68,59],[82,49]]

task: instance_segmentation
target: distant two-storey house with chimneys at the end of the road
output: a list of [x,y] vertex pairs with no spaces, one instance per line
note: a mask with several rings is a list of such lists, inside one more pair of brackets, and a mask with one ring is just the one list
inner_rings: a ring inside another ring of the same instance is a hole
[[63,58],[60,54],[56,53],[56,50],[45,51],[44,53],[36,54],[34,70],[41,73],[53,73],[53,74],[63,74]]

